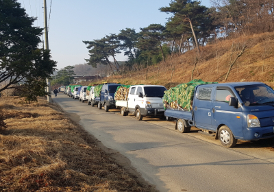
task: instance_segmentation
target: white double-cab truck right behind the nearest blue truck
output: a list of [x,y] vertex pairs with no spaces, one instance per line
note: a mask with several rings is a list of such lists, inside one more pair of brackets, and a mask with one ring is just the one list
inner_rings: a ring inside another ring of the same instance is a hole
[[121,107],[121,115],[133,112],[138,121],[144,116],[164,117],[164,91],[166,88],[158,85],[130,86],[127,101],[117,100],[116,106]]

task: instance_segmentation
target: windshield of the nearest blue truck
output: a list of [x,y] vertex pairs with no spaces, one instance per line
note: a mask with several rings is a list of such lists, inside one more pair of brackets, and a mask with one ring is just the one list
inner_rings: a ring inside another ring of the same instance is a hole
[[235,89],[245,106],[274,105],[274,91],[265,84],[236,86]]

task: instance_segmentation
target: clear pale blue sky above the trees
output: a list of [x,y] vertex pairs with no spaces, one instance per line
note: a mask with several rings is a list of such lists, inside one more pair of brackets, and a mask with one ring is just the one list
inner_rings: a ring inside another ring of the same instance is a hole
[[[34,25],[44,27],[43,0],[18,0],[29,16],[37,17]],[[171,14],[160,12],[171,0],[47,0],[49,49],[57,68],[83,64],[88,59],[88,49],[82,40],[103,38],[119,34],[126,27],[140,31],[157,23],[165,25]],[[210,0],[201,1],[208,8]],[[50,18],[49,18],[50,16]],[[44,37],[45,38],[45,37]],[[123,54],[117,60],[126,60]]]

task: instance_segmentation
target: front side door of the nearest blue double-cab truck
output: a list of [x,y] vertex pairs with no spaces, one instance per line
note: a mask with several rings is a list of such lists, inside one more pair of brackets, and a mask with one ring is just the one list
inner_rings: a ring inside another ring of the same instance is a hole
[[212,127],[216,130],[219,125],[227,125],[234,136],[242,137],[242,108],[229,106],[229,98],[236,97],[234,92],[229,87],[218,86],[214,93]]

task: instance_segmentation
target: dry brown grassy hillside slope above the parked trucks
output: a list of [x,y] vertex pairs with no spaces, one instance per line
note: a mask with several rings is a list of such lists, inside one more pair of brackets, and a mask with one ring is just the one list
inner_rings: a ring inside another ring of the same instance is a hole
[[[233,47],[232,47],[233,45]],[[240,36],[233,39],[219,39],[201,47],[193,79],[205,82],[225,82],[229,64],[233,62],[242,47],[244,53],[232,67],[226,82],[258,81],[274,86],[274,33]],[[233,50],[233,51],[232,51]],[[189,82],[196,61],[196,51],[187,51],[173,56],[158,65],[137,69],[132,74],[112,76],[108,82],[122,84],[162,84],[166,88]],[[174,70],[173,70],[174,69]],[[172,75],[173,74],[173,75]],[[171,77],[172,75],[172,77]]]

